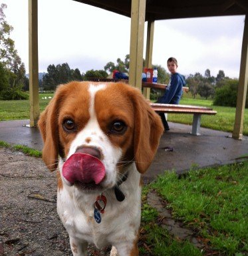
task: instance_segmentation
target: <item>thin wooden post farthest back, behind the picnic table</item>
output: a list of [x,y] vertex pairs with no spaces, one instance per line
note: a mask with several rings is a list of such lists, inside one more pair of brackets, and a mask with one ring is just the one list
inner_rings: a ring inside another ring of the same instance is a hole
[[[145,67],[152,68],[152,50],[154,47],[154,21],[148,21],[146,36],[146,61]],[[150,88],[143,89],[143,95],[150,99]]]

